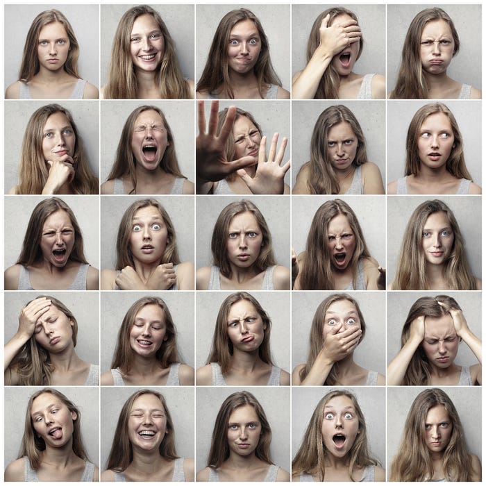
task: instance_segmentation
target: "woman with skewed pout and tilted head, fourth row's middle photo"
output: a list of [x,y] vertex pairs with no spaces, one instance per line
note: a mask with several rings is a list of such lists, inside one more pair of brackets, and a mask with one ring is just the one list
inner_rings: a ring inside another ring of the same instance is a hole
[[255,297],[247,292],[226,297],[197,385],[290,385],[290,374],[271,360],[270,330],[269,315]]

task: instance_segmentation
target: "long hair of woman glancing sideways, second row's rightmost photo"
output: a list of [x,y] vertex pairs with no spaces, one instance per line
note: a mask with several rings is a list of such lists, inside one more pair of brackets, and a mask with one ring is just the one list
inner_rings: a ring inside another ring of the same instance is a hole
[[405,176],[416,176],[420,172],[421,161],[417,142],[419,140],[421,126],[430,115],[435,115],[435,113],[444,113],[444,115],[446,115],[454,135],[454,144],[446,162],[447,171],[458,179],[465,178],[471,181],[471,174],[467,171],[466,161],[464,160],[462,135],[459,130],[458,122],[455,121],[455,117],[451,110],[449,110],[444,103],[439,103],[438,101],[436,103],[429,103],[428,105],[422,106],[417,110],[412,121],[410,121],[406,142]]

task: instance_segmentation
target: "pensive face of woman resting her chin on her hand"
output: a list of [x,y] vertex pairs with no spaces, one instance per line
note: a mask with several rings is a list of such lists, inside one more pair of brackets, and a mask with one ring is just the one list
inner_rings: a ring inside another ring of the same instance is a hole
[[67,116],[58,111],[53,113],[42,128],[42,156],[48,160],[69,160],[74,156],[76,135]]

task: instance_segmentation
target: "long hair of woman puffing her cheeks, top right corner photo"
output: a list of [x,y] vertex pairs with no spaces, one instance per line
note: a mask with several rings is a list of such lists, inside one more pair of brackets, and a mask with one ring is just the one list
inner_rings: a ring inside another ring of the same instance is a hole
[[422,69],[420,58],[421,36],[428,22],[444,20],[451,28],[454,40],[455,56],[459,51],[459,35],[455,30],[451,17],[442,8],[426,8],[421,10],[410,23],[405,35],[403,50],[401,53],[401,65],[396,85],[390,98],[409,99],[409,98],[428,98],[428,85]]

